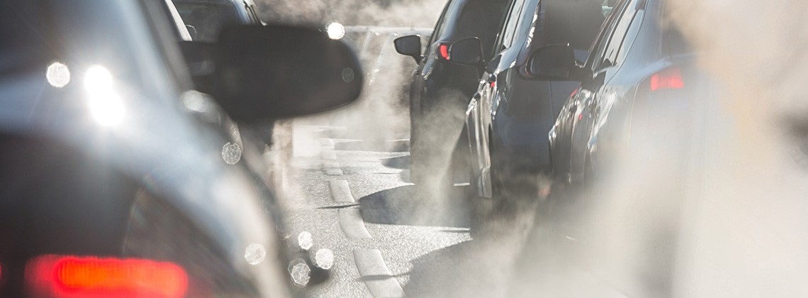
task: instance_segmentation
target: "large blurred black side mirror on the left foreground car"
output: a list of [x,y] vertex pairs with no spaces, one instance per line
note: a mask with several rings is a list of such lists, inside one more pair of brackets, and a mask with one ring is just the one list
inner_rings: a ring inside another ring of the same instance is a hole
[[213,45],[209,91],[236,121],[321,113],[359,97],[356,54],[318,28],[224,28]]

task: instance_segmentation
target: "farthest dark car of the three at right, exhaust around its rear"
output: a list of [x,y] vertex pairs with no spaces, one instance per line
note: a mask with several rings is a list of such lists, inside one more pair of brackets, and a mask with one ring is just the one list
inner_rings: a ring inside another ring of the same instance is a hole
[[398,53],[418,63],[410,80],[410,181],[415,184],[440,181],[452,185],[452,168],[465,168],[462,162],[468,153],[453,152],[456,147],[465,148],[465,140],[460,140],[465,135],[461,134],[463,113],[482,66],[453,62],[448,48],[460,40],[476,38],[483,45],[483,57],[490,57],[509,2],[447,2],[423,52],[418,35],[394,40]]

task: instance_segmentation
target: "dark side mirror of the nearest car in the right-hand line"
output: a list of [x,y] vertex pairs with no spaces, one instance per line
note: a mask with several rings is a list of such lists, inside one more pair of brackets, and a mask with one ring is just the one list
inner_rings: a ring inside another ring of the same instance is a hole
[[579,66],[570,45],[546,45],[528,57],[525,73],[530,79],[565,81],[579,79]]

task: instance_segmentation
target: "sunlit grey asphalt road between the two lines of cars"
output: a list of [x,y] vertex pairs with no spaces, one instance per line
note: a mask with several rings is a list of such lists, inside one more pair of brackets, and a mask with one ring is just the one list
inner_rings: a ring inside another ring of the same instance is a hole
[[335,118],[295,122],[284,185],[287,236],[308,232],[309,251],[334,253],[309,296],[623,296],[566,262],[580,245],[537,225],[537,200],[472,239],[467,185],[438,198],[410,183],[407,131],[368,137]]

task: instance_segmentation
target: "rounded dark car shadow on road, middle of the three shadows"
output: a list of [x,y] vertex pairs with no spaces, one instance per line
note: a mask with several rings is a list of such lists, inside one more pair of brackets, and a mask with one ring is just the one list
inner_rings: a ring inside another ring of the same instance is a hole
[[360,198],[365,222],[433,227],[468,228],[469,202],[461,194],[467,186],[455,186],[445,198],[425,198],[416,185],[385,189]]

